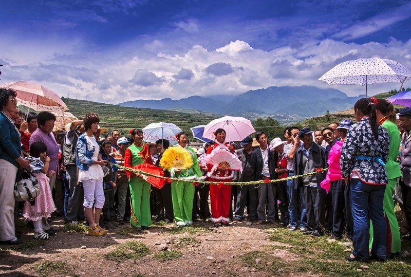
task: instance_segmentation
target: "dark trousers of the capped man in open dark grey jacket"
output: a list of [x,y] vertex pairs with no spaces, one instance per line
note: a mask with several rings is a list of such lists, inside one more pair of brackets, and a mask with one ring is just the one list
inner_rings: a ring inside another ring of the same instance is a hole
[[308,229],[321,234],[324,233],[324,196],[325,190],[304,186]]

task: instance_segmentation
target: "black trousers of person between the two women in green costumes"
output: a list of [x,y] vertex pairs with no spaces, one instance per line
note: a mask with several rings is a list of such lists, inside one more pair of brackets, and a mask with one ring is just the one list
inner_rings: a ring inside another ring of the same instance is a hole
[[[173,201],[171,200],[171,183],[165,183],[161,189],[153,187],[156,197],[157,218],[174,220]],[[165,211],[164,211],[165,210]]]

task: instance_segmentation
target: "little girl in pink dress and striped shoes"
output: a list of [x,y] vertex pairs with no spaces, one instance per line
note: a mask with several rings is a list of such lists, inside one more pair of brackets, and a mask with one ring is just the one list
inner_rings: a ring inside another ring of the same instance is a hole
[[[49,234],[43,231],[42,218],[50,217],[51,213],[55,211],[48,176],[46,175],[50,162],[50,158],[46,152],[47,147],[43,142],[33,142],[30,146],[30,155],[35,158],[40,158],[44,163],[42,172],[33,173],[39,181],[40,194],[35,198],[33,206],[31,206],[29,201],[25,201],[23,209],[23,217],[33,221],[35,239],[49,239]],[[54,174],[54,172],[50,173]]]

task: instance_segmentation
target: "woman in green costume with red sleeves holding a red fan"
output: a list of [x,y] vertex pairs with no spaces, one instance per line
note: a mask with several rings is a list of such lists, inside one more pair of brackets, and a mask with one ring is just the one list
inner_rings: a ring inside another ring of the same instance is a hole
[[[139,163],[153,164],[148,146],[143,144],[143,131],[141,129],[130,130],[133,143],[124,154],[124,166],[133,168]],[[132,200],[132,211],[130,224],[132,226],[147,229],[151,225],[150,212],[150,189],[151,184],[147,182],[147,176],[126,171],[128,184],[130,186],[130,199]]]

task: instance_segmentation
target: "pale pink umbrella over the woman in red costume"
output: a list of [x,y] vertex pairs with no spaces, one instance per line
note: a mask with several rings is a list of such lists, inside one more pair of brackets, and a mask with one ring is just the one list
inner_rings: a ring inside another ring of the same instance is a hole
[[241,141],[252,133],[255,133],[251,121],[244,117],[225,116],[211,121],[204,127],[203,137],[215,140],[214,132],[218,128],[226,131],[226,141]]

